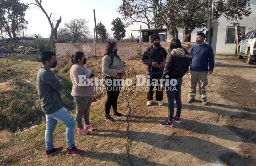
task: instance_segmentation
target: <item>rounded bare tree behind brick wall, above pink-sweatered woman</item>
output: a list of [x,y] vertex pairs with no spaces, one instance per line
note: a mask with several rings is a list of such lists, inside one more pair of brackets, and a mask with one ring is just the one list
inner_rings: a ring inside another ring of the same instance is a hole
[[86,19],[73,19],[68,23],[65,23],[65,28],[70,33],[70,35],[73,37],[74,41],[80,41],[78,38],[83,37],[86,38],[89,36],[89,28],[87,26],[88,20]]

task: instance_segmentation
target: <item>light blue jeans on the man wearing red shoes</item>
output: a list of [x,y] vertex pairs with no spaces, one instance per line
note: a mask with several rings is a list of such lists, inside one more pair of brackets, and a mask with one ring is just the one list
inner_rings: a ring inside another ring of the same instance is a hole
[[46,114],[46,129],[45,129],[45,143],[46,150],[54,148],[53,145],[53,131],[56,128],[57,121],[66,125],[66,141],[67,148],[71,149],[75,146],[74,134],[75,134],[75,120],[67,112],[64,107],[52,114]]

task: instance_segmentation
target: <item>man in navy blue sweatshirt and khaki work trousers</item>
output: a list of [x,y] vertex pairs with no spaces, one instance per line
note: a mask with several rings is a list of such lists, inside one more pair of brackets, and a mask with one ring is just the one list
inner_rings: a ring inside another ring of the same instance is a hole
[[187,103],[192,103],[196,94],[196,84],[198,82],[199,94],[203,105],[207,105],[207,95],[205,86],[208,84],[207,75],[213,72],[214,54],[210,45],[204,43],[204,33],[196,35],[196,43],[193,45],[189,53],[192,54],[190,65],[190,89],[189,100]]

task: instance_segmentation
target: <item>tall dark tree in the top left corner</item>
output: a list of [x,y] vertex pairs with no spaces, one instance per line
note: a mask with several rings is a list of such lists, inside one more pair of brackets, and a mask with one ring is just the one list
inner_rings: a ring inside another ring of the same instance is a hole
[[2,32],[9,38],[16,38],[17,33],[27,28],[25,20],[27,5],[20,0],[0,0],[0,25]]

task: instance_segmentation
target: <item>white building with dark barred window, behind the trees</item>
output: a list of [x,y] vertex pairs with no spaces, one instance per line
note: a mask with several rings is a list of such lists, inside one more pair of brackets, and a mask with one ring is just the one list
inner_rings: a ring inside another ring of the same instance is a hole
[[[256,29],[256,0],[250,0],[251,14],[248,17],[243,17],[239,20],[242,33],[245,35]],[[235,26],[231,24],[225,17],[220,17],[218,20],[218,32],[216,43],[216,54],[235,54]],[[196,34],[199,29],[195,29],[191,34],[191,42],[196,39]],[[183,29],[179,29],[179,39],[183,40]],[[170,42],[170,35],[167,34],[167,42]]]

